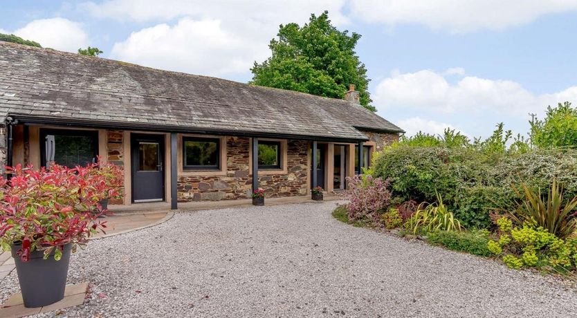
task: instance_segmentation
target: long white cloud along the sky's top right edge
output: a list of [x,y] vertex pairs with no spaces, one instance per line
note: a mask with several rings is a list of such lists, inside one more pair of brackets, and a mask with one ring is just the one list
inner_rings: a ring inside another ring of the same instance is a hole
[[504,30],[542,15],[577,10],[575,0],[356,0],[351,12],[364,21],[394,26],[423,24],[455,33]]

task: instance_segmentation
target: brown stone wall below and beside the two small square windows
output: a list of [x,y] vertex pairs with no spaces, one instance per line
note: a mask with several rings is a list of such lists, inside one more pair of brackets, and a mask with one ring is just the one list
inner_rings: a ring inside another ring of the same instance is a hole
[[[259,186],[267,198],[307,193],[308,149],[308,142],[287,142],[287,173],[259,176]],[[249,173],[249,151],[248,138],[226,138],[226,176],[178,176],[178,201],[250,198],[253,176]]]

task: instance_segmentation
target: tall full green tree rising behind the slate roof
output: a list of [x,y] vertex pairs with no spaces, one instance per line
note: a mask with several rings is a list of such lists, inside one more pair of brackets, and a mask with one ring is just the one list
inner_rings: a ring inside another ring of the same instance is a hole
[[355,84],[360,104],[376,111],[370,105],[367,69],[354,50],[360,35],[337,30],[324,11],[311,15],[302,27],[281,25],[277,36],[268,45],[272,56],[250,69],[251,84],[333,98],[342,98],[349,84]]

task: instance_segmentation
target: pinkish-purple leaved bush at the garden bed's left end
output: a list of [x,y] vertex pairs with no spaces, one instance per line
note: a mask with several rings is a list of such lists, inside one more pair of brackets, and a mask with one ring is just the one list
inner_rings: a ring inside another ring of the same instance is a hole
[[378,223],[381,213],[390,205],[391,192],[388,180],[373,178],[372,176],[355,176],[347,178],[349,189],[344,195],[349,199],[347,206],[349,221],[368,219]]

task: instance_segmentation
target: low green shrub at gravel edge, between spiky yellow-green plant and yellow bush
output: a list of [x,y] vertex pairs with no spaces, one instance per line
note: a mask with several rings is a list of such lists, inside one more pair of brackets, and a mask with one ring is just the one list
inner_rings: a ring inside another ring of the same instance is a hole
[[462,232],[434,231],[428,236],[429,243],[443,245],[449,250],[480,256],[491,256],[488,249],[489,232],[473,230]]

